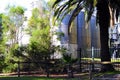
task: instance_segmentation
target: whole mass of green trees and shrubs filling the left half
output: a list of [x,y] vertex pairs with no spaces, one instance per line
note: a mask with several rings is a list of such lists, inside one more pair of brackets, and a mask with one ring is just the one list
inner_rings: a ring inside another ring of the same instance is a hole
[[1,67],[0,69],[3,72],[16,70],[17,64],[12,64],[13,61],[39,61],[50,58],[55,48],[51,47],[50,16],[48,14],[40,14],[39,9],[33,9],[28,23],[31,39],[30,44],[26,47],[18,45],[17,35],[24,22],[24,8],[13,6],[8,8],[8,13],[2,15],[3,40],[0,42],[0,50],[3,50],[1,53],[4,56],[3,63],[0,62],[3,69]]

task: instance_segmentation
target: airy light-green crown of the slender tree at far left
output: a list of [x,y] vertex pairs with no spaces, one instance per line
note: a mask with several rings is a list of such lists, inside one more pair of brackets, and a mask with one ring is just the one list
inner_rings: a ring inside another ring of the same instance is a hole
[[[23,21],[24,21],[23,15],[24,14],[23,14],[22,7],[11,7],[8,11],[8,14],[3,15],[2,25],[4,28],[4,35],[8,36],[7,37],[8,39],[11,39],[11,40],[15,39],[15,41],[18,41],[16,34],[18,34],[19,27],[21,27],[23,24]],[[8,31],[9,31],[9,35],[6,35]]]

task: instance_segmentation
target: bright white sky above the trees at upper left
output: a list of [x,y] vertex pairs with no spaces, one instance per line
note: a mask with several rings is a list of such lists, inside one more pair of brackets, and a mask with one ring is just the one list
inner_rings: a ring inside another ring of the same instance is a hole
[[[20,5],[25,8],[30,8],[32,5],[32,1],[37,1],[37,0],[0,0],[0,13],[5,11],[5,8],[7,5]],[[48,0],[45,0],[48,1]]]

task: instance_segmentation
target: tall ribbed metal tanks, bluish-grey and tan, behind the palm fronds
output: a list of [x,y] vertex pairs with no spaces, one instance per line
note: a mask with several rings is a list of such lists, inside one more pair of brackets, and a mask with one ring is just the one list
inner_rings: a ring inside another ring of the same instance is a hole
[[99,27],[96,26],[96,16],[92,15],[91,20],[85,22],[84,11],[81,11],[70,26],[68,35],[68,22],[70,15],[67,15],[61,23],[60,29],[64,33],[61,37],[61,45],[70,49],[73,57],[78,57],[77,50],[87,53],[92,47],[100,48]]

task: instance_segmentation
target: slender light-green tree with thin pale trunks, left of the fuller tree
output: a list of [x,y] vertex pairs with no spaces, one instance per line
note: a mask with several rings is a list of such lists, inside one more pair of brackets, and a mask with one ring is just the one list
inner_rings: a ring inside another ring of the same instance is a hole
[[[17,7],[10,7],[8,9],[8,14],[6,15],[9,19],[9,23],[11,25],[7,25],[9,35],[11,35],[10,41],[11,41],[11,46],[13,44],[18,44],[20,40],[20,34],[21,34],[21,29],[23,27],[23,22],[24,22],[24,8],[21,6]],[[5,22],[5,21],[4,21]]]

